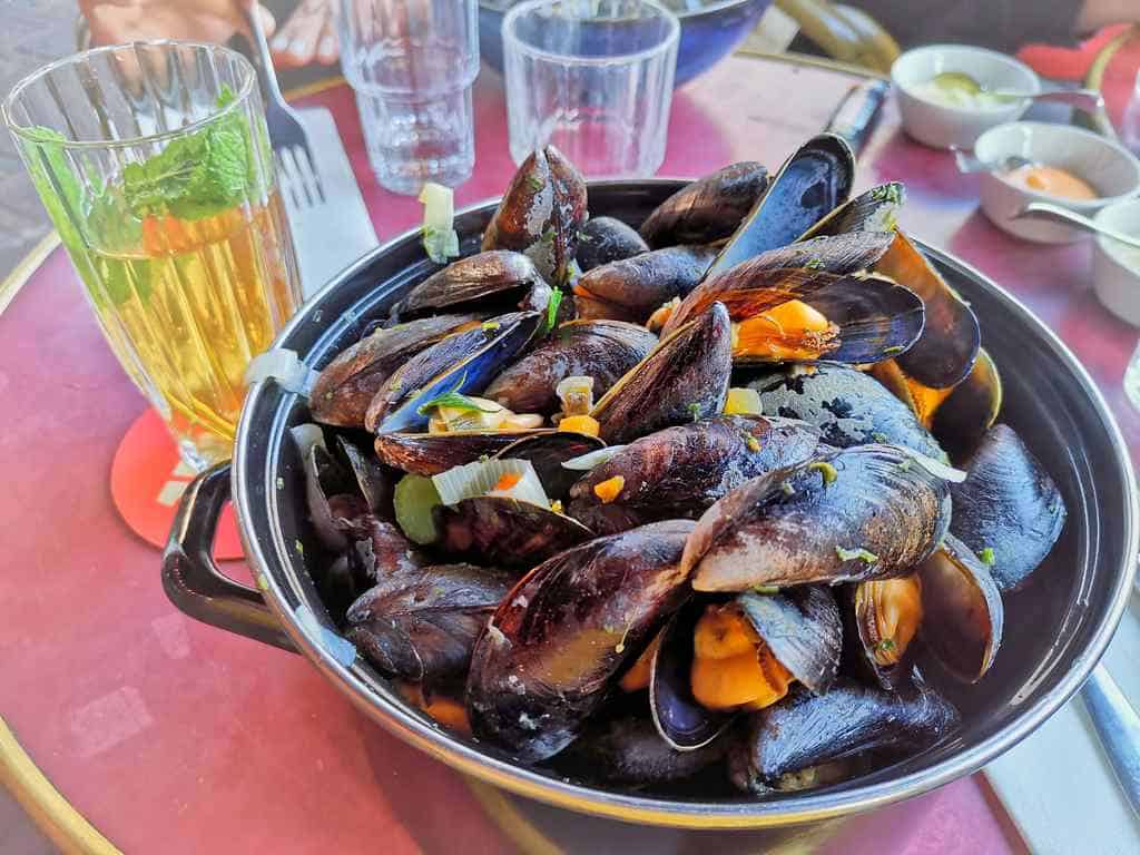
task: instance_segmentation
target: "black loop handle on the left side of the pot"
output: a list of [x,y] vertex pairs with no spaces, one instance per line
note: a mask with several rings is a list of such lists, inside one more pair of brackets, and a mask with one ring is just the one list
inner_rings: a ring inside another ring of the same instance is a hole
[[295,653],[261,594],[228,578],[214,563],[214,532],[229,500],[229,473],[230,463],[219,463],[182,494],[162,554],[162,586],[192,618]]

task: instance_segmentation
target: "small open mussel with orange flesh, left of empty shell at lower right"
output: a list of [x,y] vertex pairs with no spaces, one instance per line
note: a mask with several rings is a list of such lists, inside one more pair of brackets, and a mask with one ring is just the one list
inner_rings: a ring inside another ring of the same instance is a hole
[[918,575],[849,587],[846,606],[858,665],[883,689],[897,691],[910,685],[918,632],[925,620]]

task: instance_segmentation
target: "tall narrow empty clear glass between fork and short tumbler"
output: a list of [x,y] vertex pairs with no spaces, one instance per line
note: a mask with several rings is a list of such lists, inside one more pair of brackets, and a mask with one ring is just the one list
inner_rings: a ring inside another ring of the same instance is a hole
[[341,0],[341,67],[382,187],[455,187],[475,164],[477,0]]

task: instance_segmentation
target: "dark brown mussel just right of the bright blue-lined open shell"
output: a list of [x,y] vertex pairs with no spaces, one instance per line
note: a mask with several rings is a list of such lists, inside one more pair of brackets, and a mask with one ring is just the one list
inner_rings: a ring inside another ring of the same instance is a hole
[[515,413],[554,413],[561,406],[555,389],[567,377],[593,377],[601,397],[656,345],[643,326],[572,320],[495,377],[483,397]]

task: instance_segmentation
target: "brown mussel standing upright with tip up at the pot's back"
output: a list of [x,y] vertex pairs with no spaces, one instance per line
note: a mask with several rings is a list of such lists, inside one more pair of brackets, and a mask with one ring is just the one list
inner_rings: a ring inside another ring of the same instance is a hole
[[527,157],[511,179],[487,231],[483,250],[526,253],[553,285],[569,279],[586,221],[586,181],[562,153],[547,145]]

